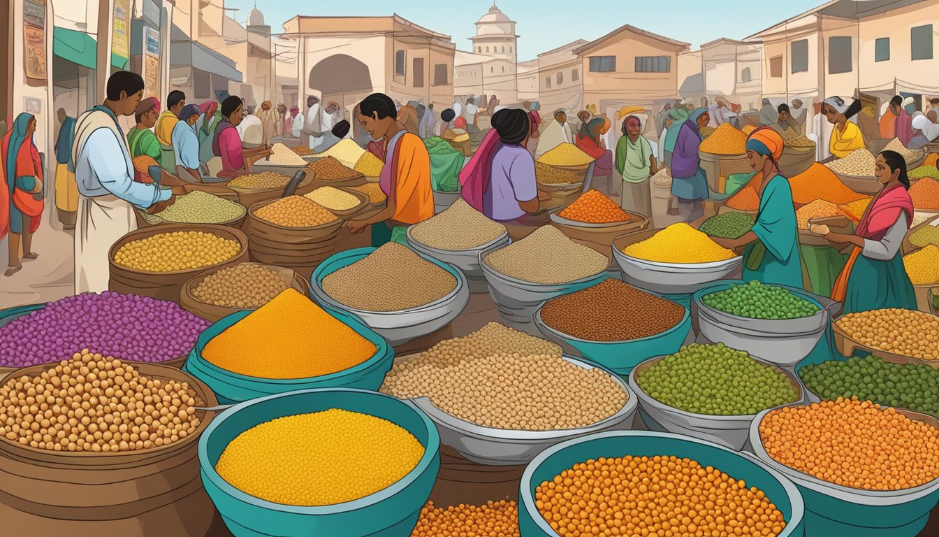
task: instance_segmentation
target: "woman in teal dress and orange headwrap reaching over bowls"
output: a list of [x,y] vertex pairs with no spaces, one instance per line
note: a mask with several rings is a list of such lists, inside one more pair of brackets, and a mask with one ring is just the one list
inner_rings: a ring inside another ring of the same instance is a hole
[[802,287],[802,261],[796,229],[793,191],[779,174],[782,137],[769,127],[753,131],[747,138],[747,161],[757,172],[760,210],[753,229],[739,239],[714,237],[725,248],[744,247],[744,279],[766,284]]

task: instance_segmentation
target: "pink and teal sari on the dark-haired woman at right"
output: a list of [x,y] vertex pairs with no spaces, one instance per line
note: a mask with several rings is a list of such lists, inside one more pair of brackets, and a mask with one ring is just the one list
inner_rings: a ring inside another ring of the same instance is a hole
[[[881,241],[901,214],[907,226],[913,220],[913,200],[902,185],[882,190],[861,217],[855,235]],[[861,255],[854,246],[851,257],[835,280],[831,298],[844,303],[843,313],[882,308],[916,309],[916,294],[910,276],[903,267],[900,250],[889,261],[877,261]]]

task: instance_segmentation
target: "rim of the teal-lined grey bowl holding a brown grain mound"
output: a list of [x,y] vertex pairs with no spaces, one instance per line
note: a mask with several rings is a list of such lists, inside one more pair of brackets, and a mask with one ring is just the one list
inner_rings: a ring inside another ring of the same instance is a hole
[[[445,261],[440,261],[436,258],[430,257],[421,252],[418,252],[414,248],[408,247],[410,251],[414,252],[415,255],[417,255],[424,261],[430,261],[436,264],[437,266],[439,266],[441,269],[450,273],[451,276],[454,276],[454,279],[456,280],[456,285],[454,285],[454,289],[452,289],[447,294],[441,296],[437,300],[434,300],[433,302],[428,302],[427,304],[424,304],[423,306],[416,306],[414,308],[407,308],[407,309],[395,309],[393,311],[372,311],[370,309],[352,308],[351,306],[346,306],[345,304],[339,302],[335,298],[332,298],[326,291],[323,290],[323,285],[322,285],[323,279],[332,274],[332,273],[323,274],[322,272],[323,267],[326,267],[329,264],[331,264],[331,261],[332,262],[346,261],[349,258],[360,256],[358,259],[348,262],[342,267],[340,267],[340,268],[346,268],[352,263],[362,261],[363,259],[368,257],[369,254],[376,251],[377,249],[378,248],[375,246],[363,246],[362,248],[352,248],[351,250],[344,250],[342,252],[332,254],[325,261],[316,265],[316,269],[314,269],[313,274],[310,275],[310,293],[313,295],[314,300],[316,302],[319,302],[320,300],[322,300],[323,302],[326,303],[325,305],[321,304],[321,306],[329,306],[330,308],[338,308],[338,309],[342,309],[343,311],[347,313],[352,313],[354,316],[362,320],[362,324],[365,324],[366,326],[371,327],[369,324],[364,322],[362,317],[392,317],[395,315],[406,315],[408,313],[417,313],[417,312],[425,311],[429,309],[440,308],[446,305],[447,303],[453,301],[459,295],[459,293],[464,288],[467,287],[466,276],[463,274],[463,271],[461,271],[454,264],[448,263]],[[339,269],[336,269],[336,270],[339,270]]]

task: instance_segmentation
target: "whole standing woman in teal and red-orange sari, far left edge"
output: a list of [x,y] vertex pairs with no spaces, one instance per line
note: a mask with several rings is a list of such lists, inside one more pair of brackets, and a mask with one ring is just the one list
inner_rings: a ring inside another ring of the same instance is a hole
[[38,258],[32,250],[33,232],[39,228],[43,203],[42,163],[33,143],[35,132],[36,118],[23,113],[0,142],[4,178],[4,188],[0,188],[0,239],[9,231],[9,267],[4,276],[13,276],[23,268],[21,244],[23,259]]

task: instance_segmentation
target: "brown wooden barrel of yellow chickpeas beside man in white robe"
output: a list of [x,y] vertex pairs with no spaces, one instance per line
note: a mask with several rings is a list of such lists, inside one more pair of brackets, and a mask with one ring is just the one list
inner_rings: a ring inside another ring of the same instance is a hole
[[[121,246],[132,243],[133,241],[152,237],[153,235],[172,233],[174,231],[204,231],[212,233],[223,239],[236,241],[241,245],[241,249],[235,257],[229,260],[215,263],[207,267],[173,272],[146,272],[115,263],[115,254]],[[159,298],[160,300],[177,302],[179,300],[179,290],[182,288],[182,285],[193,276],[199,276],[208,270],[238,264],[242,261],[248,261],[248,237],[239,229],[214,224],[161,224],[160,226],[150,226],[149,228],[131,231],[111,246],[111,250],[108,251],[108,265],[111,271],[111,280],[108,283],[108,289],[116,292],[140,294],[142,296]]]

